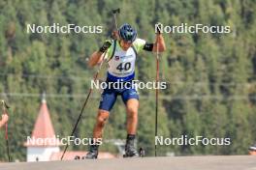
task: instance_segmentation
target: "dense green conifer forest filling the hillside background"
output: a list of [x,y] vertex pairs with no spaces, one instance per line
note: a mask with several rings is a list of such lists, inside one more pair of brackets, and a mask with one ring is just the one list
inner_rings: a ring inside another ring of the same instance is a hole
[[[138,37],[155,41],[154,25],[228,25],[229,34],[163,33],[167,50],[160,54],[158,135],[165,137],[229,137],[229,146],[159,146],[158,155],[247,155],[256,142],[256,1],[255,0],[1,0],[0,99],[9,110],[12,160],[24,161],[42,94],[46,93],[55,133],[70,135],[97,68],[87,60],[110,39],[112,9],[120,8],[117,24],[130,23]],[[101,25],[99,34],[27,33],[27,24]],[[143,51],[136,78],[154,81],[156,54]],[[103,66],[100,79],[106,76]],[[77,137],[91,137],[100,99],[93,90]],[[140,91],[138,146],[154,156],[155,91]],[[117,99],[104,139],[126,138],[126,113]],[[6,161],[4,128],[0,130],[0,160]],[[61,148],[64,149],[63,147]],[[69,150],[87,150],[70,146]],[[111,143],[100,151],[117,154]]]

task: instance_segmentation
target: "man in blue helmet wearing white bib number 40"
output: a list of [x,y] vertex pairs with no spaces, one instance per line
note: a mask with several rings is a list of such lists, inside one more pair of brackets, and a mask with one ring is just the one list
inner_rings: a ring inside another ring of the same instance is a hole
[[[137,31],[131,25],[125,23],[118,29],[117,40],[104,42],[103,46],[90,56],[88,65],[89,67],[94,67],[106,59],[109,65],[106,82],[125,84],[131,82],[135,77],[137,53],[140,53],[142,50],[163,52],[165,49],[165,42],[160,31],[156,34],[156,41],[149,43],[138,39]],[[106,55],[104,55],[105,52]],[[139,156],[135,148],[139,96],[136,89],[132,86],[116,89],[110,85],[107,89],[104,89],[96,124],[93,129],[94,141],[102,138],[103,128],[110,116],[110,111],[117,96],[121,96],[127,112],[125,156]],[[99,144],[97,142],[90,144],[89,152],[85,158],[97,158],[98,148]]]

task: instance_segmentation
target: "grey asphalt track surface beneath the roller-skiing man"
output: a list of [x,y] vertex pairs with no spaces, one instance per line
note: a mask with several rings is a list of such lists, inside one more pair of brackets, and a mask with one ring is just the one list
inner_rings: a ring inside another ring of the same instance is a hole
[[170,156],[1,163],[0,170],[256,170],[256,156]]

